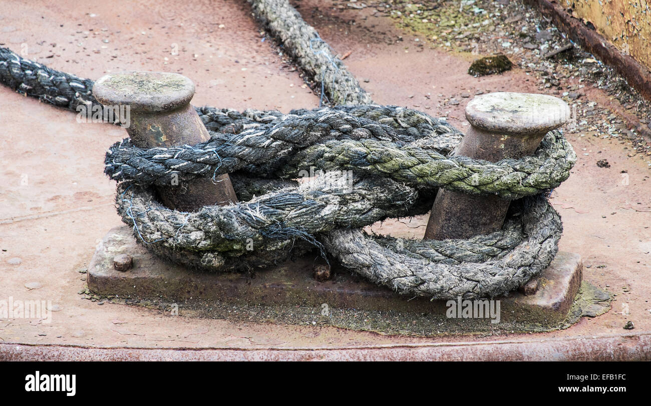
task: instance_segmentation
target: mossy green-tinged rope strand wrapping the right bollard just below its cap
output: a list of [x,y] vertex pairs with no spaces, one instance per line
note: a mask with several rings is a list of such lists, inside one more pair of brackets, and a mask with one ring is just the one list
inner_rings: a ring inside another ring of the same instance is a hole
[[314,163],[323,170],[352,169],[359,175],[386,176],[413,187],[442,187],[468,195],[514,200],[553,189],[570,176],[576,162],[560,131],[550,131],[533,156],[496,163],[465,156],[446,157],[436,148],[376,140],[326,141],[299,151],[288,167]]

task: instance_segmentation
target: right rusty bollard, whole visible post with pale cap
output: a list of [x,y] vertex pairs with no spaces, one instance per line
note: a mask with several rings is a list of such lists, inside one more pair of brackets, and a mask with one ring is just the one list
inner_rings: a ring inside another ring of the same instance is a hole
[[[495,92],[477,96],[465,107],[471,128],[455,155],[497,162],[531,155],[548,131],[570,118],[570,107],[544,94]],[[469,238],[501,228],[508,200],[439,189],[424,239]]]

